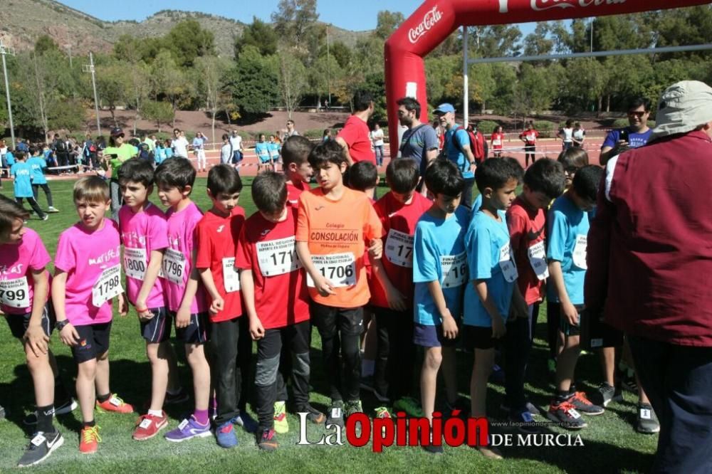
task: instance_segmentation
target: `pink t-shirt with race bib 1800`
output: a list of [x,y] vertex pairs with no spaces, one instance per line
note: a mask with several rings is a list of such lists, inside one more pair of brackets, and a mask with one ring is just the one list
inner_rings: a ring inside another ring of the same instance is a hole
[[[151,252],[168,246],[168,224],[163,211],[149,202],[138,213],[134,213],[129,206],[122,206],[119,210],[119,229],[121,243],[124,244],[126,293],[131,304],[135,305],[151,261]],[[156,283],[148,293],[147,307],[155,309],[166,305],[164,285],[163,278],[156,278]]]

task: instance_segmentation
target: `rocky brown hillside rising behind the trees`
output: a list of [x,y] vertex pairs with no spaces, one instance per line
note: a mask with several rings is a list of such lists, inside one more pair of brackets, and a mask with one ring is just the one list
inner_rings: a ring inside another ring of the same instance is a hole
[[[88,51],[111,51],[119,36],[137,38],[163,36],[179,21],[195,19],[202,28],[212,31],[219,55],[233,56],[233,38],[242,33],[245,23],[224,16],[197,11],[162,10],[143,21],[103,21],[54,0],[3,0],[0,16],[0,38],[17,51],[34,47],[37,38],[50,36],[61,48],[80,54]],[[353,46],[370,31],[348,31],[329,27],[333,41]]]

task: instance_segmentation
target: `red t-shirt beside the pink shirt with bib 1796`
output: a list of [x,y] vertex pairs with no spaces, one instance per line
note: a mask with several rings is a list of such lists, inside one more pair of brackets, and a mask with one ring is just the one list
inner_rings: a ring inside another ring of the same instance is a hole
[[[210,268],[215,287],[223,298],[224,309],[210,313],[211,322],[229,321],[242,315],[240,277],[235,271],[235,242],[245,222],[245,210],[236,206],[229,217],[211,211],[205,213],[197,226],[196,268]],[[211,297],[206,291],[208,304]]]

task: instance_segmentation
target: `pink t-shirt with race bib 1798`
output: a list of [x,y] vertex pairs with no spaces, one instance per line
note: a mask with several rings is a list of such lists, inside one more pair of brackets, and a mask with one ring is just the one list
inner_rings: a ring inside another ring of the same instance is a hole
[[111,299],[106,297],[120,290],[121,279],[117,223],[104,219],[103,227],[93,232],[75,223],[59,236],[54,266],[67,273],[65,312],[72,325],[111,321]]

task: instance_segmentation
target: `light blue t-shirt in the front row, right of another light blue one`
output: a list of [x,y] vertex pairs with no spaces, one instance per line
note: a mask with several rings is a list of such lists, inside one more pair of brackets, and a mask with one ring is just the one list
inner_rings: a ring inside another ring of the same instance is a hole
[[[472,215],[465,236],[469,283],[465,288],[465,319],[468,326],[492,327],[492,317],[475,291],[475,280],[486,280],[487,293],[491,295],[504,322],[509,315],[512,293],[516,284],[513,254],[511,252],[507,217],[497,211],[501,221],[477,211]],[[508,268],[507,281],[504,268]]]

